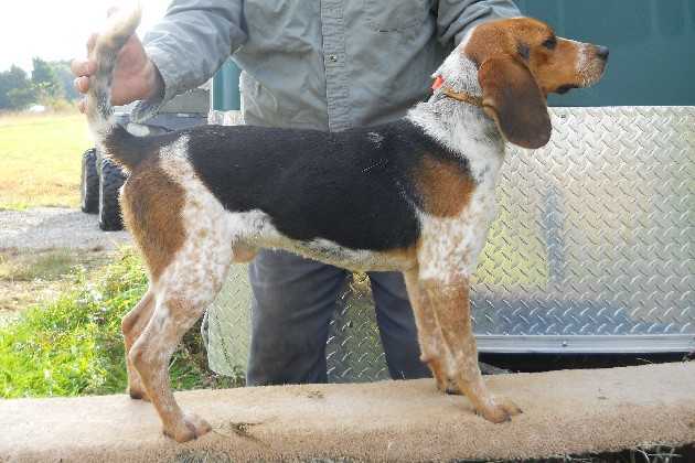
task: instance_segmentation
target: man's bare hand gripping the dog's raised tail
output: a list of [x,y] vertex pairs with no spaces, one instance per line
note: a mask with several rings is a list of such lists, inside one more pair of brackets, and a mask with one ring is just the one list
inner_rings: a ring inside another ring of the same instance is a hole
[[[92,52],[97,35],[94,34],[87,41],[87,51]],[[97,68],[97,64],[90,60],[73,60],[71,69],[75,75],[75,88],[82,94],[89,90],[89,76]],[[121,49],[114,69],[114,83],[111,85],[111,104],[127,105],[138,99],[149,99],[163,89],[162,77],[159,71],[147,56],[142,43],[132,35]],[[84,101],[79,109],[84,112]]]

